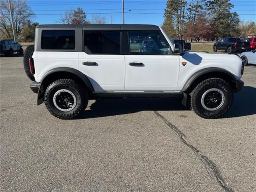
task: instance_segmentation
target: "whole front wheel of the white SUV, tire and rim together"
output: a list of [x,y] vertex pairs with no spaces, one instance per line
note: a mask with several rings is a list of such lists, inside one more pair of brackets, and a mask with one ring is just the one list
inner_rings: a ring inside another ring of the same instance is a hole
[[191,92],[190,106],[200,117],[218,118],[230,108],[233,94],[228,82],[220,78],[209,78]]

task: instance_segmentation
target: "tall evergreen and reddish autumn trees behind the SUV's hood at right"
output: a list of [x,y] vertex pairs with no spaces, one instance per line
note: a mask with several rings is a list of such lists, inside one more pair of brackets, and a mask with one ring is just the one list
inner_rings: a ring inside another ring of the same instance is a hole
[[255,22],[241,22],[230,0],[167,0],[162,27],[170,38],[218,40],[256,32]]

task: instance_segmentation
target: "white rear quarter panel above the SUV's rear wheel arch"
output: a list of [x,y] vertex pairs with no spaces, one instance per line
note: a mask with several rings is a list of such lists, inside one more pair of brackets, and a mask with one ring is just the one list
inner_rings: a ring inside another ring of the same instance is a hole
[[78,52],[34,52],[35,80],[41,82],[44,75],[58,67],[69,67],[78,70]]

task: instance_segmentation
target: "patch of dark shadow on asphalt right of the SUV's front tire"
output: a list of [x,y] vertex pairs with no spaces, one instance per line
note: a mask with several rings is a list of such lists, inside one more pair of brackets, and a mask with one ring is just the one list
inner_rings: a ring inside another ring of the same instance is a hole
[[234,95],[230,110],[221,118],[242,117],[256,114],[256,88],[245,86]]

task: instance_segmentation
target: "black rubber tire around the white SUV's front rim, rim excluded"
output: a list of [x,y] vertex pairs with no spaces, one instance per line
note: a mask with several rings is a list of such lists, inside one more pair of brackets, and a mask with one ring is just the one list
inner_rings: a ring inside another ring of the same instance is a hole
[[[224,104],[215,111],[206,110],[202,104],[201,99],[207,90],[217,88],[224,93]],[[190,93],[190,108],[202,118],[218,118],[228,111],[234,98],[234,91],[230,84],[221,78],[209,78],[198,84],[196,88]]]

